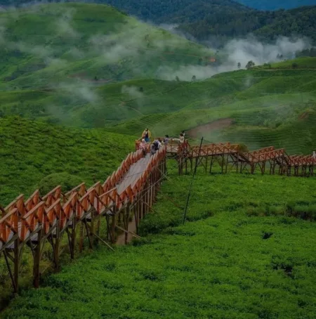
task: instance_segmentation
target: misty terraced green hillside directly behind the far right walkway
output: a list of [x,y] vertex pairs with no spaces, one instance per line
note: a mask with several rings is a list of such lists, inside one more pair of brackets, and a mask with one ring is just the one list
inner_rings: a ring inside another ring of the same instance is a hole
[[[138,116],[109,130],[139,136],[147,126],[157,136],[173,136],[185,129],[191,138],[204,136],[209,141],[246,143],[251,149],[274,145],[290,153],[310,153],[316,147],[312,138],[316,134],[315,58],[296,63],[304,70],[289,68],[284,62],[268,70],[240,70],[202,82],[185,82],[163,97],[148,97],[147,102],[142,98],[146,105],[157,105],[154,114]],[[127,105],[137,108],[136,100]],[[158,105],[164,105],[163,112]],[[213,129],[212,123],[220,119],[231,119],[232,123]],[[190,134],[190,129],[199,126],[199,134]]]

